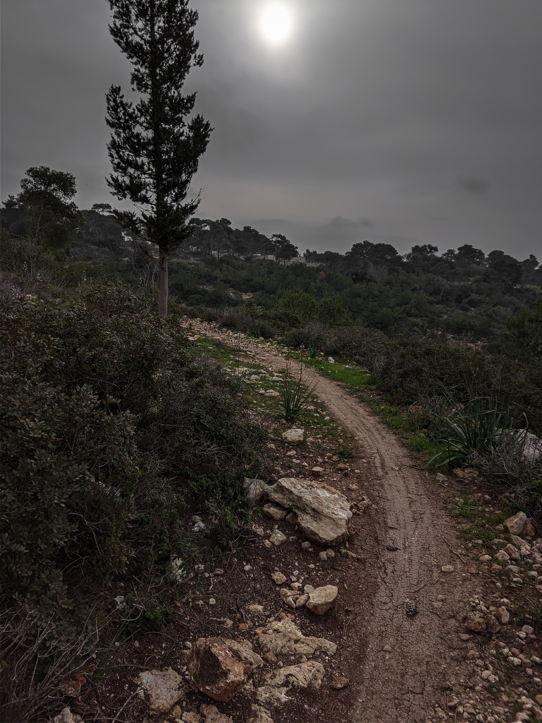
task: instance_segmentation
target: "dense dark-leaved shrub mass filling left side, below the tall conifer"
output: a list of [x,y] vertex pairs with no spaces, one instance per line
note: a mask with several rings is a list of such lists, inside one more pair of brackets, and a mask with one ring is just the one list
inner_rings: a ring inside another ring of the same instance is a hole
[[69,620],[69,580],[186,552],[185,498],[242,486],[261,432],[184,338],[123,286],[4,307],[1,569],[20,606]]

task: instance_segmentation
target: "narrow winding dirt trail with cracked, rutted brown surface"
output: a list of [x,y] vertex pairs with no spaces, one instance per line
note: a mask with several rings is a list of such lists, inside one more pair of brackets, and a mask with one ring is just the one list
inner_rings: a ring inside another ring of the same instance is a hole
[[[281,356],[264,356],[277,368],[285,366]],[[412,469],[390,429],[335,382],[313,375],[319,398],[358,437],[367,464],[361,470],[363,482],[356,477],[356,483],[378,508],[354,518],[356,544],[364,550],[366,565],[358,568],[358,589],[351,593],[350,607],[359,614],[345,641],[343,664],[348,655],[351,684],[341,719],[435,720],[435,707],[446,709],[450,649],[460,648],[457,636],[445,639],[458,623],[444,611],[457,609],[453,602],[462,588],[461,576],[441,571],[449,564],[458,569],[460,561],[442,539],[457,549],[457,533],[442,510],[442,497],[423,472]],[[437,611],[432,603],[438,595],[447,602]],[[416,617],[406,615],[407,599],[416,602]]]

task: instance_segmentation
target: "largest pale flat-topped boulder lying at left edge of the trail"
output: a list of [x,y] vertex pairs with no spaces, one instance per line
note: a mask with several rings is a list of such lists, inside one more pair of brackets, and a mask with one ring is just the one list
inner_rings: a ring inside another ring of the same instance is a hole
[[350,504],[332,487],[321,487],[309,479],[283,477],[266,491],[270,500],[296,513],[298,528],[312,542],[340,544],[348,537]]

